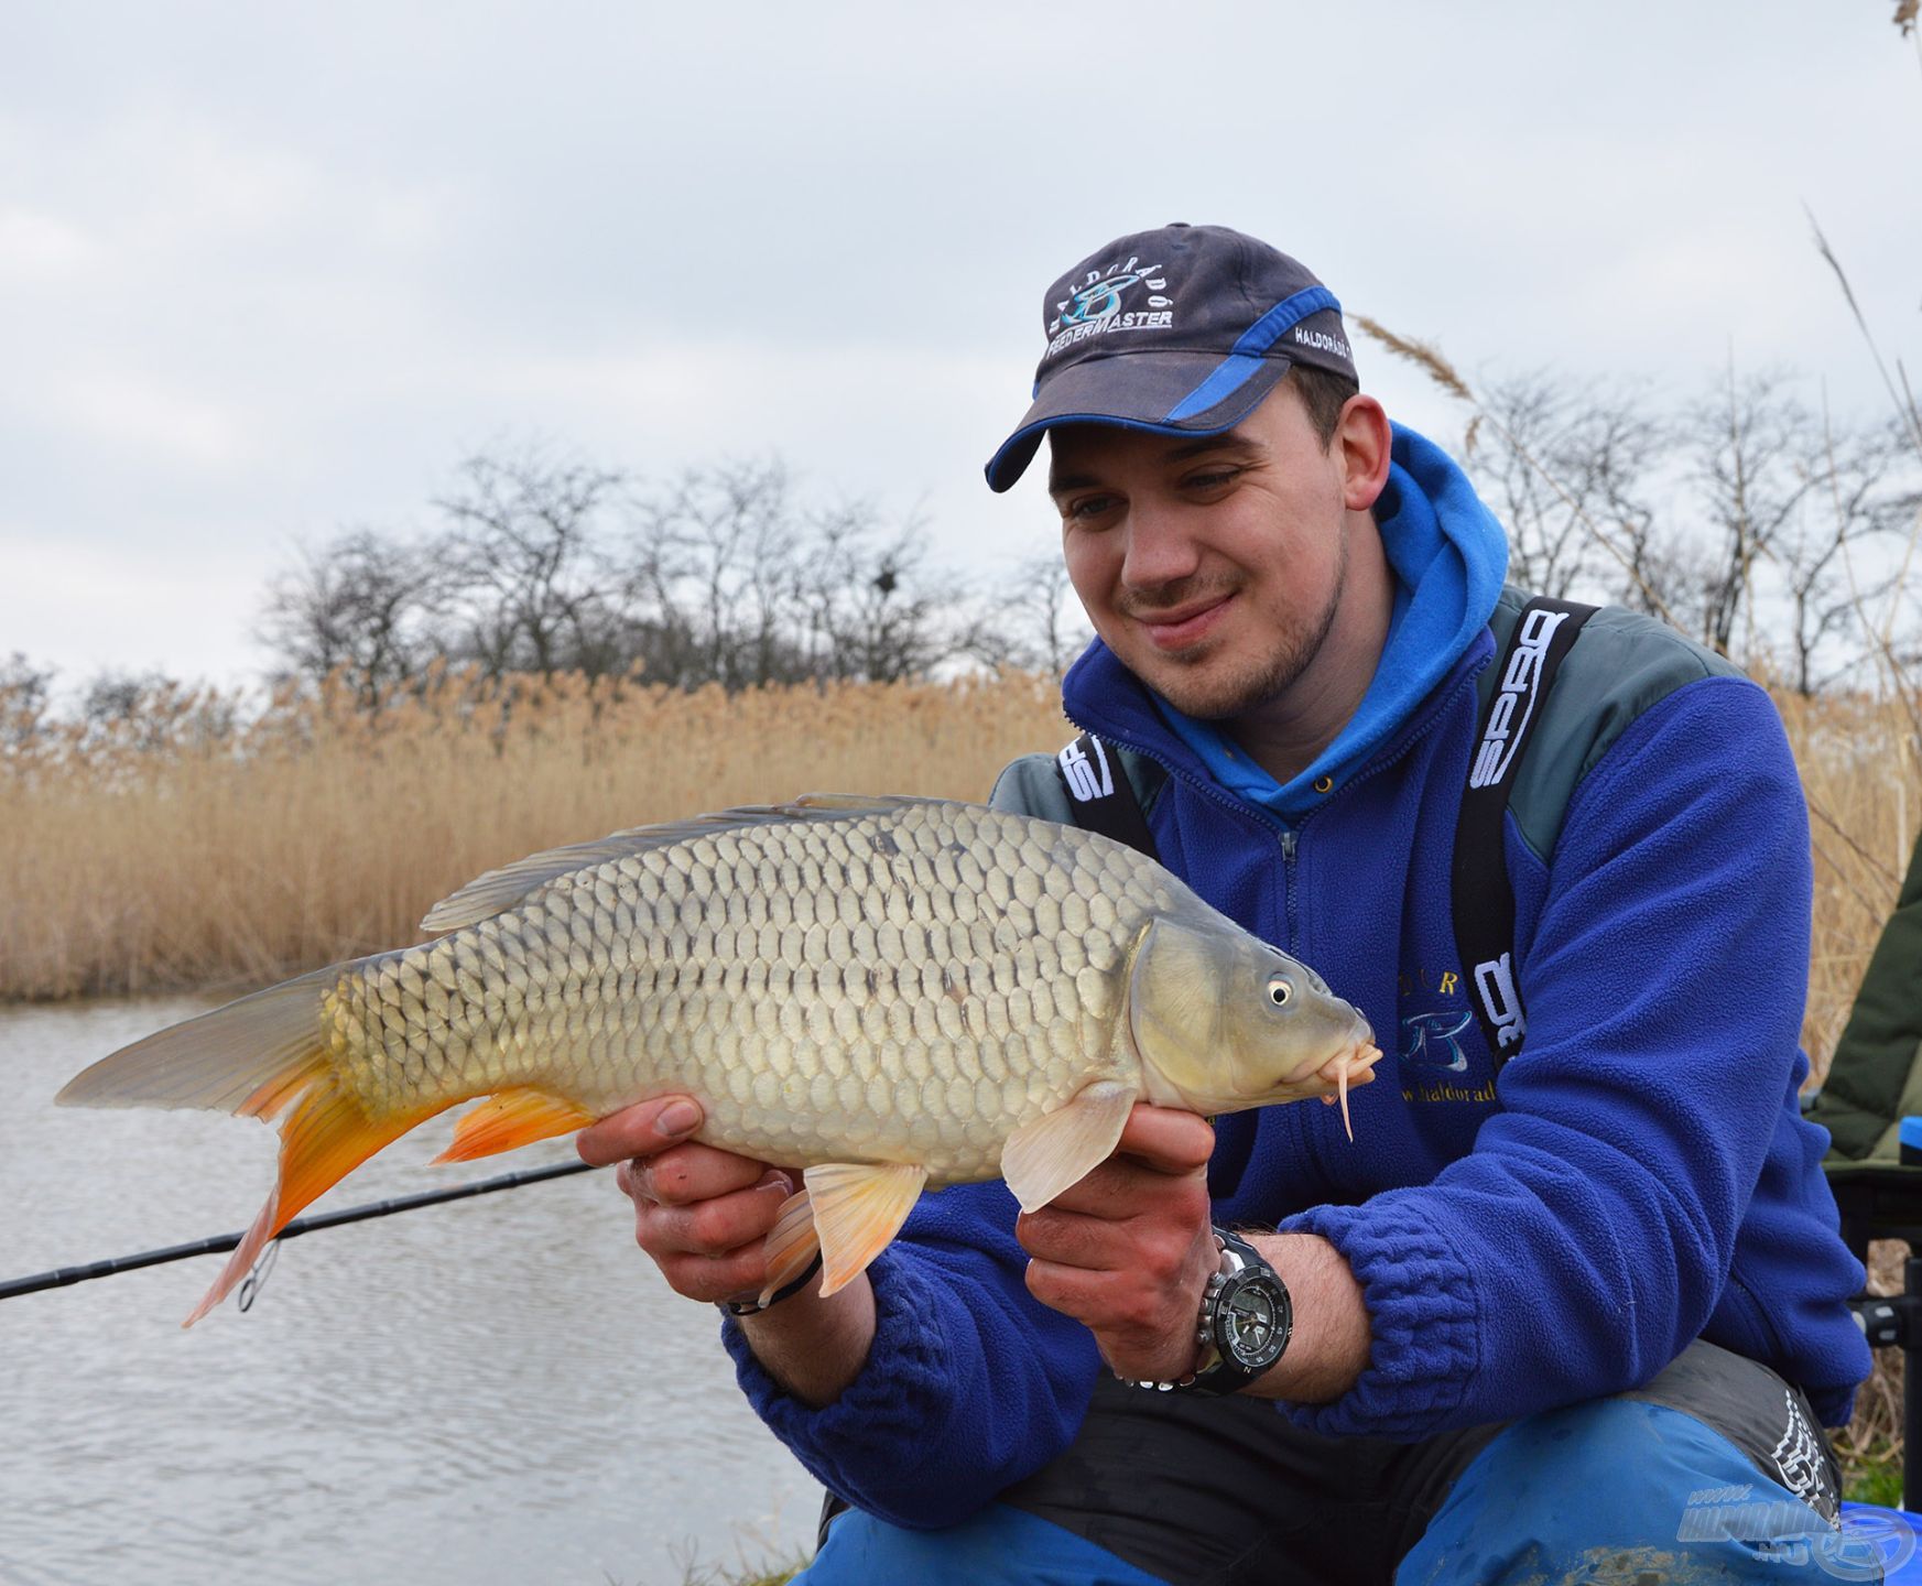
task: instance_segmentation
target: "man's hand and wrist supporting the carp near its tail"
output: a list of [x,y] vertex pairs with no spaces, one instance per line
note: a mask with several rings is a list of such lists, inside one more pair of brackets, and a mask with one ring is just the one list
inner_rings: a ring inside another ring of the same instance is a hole
[[[702,1109],[657,1096],[604,1117],[575,1140],[582,1161],[621,1163],[615,1184],[634,1202],[634,1242],[688,1300],[748,1300],[767,1284],[763,1242],[796,1182],[765,1161],[702,1146],[688,1136]],[[836,1400],[875,1342],[875,1290],[863,1273],[821,1298],[819,1284],[757,1315],[740,1317],[748,1348],[798,1400]]]

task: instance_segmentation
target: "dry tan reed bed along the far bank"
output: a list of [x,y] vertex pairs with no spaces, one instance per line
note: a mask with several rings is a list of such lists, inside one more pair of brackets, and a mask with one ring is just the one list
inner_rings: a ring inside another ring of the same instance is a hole
[[[1909,865],[1922,767],[1899,702],[1776,698],[1809,794],[1820,1080]],[[1028,673],[690,694],[436,671],[373,707],[342,684],[254,713],[160,690],[106,729],[15,706],[0,694],[0,1000],[244,990],[419,940],[438,898],[538,848],[807,790],[984,798],[1067,732]],[[1876,1250],[1884,1292],[1905,1253]],[[1882,1351],[1839,1440],[1857,1478],[1893,1465],[1899,1426]]]

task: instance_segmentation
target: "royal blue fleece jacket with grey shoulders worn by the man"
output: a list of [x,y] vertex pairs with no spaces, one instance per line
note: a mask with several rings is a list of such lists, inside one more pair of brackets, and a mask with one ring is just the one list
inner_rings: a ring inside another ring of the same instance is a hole
[[[1451,481],[1418,461],[1403,498],[1445,511],[1432,486]],[[1653,629],[1647,642],[1682,644]],[[1163,861],[1320,969],[1384,1044],[1376,1082],[1349,1098],[1353,1144],[1332,1107],[1219,1127],[1217,1221],[1326,1236],[1370,1311],[1357,1384],[1282,1411],[1415,1440],[1636,1386],[1701,1334],[1799,1382],[1834,1425],[1868,1351],[1841,1303],[1860,1267],[1836,1236],[1826,1134],[1795,1105],[1811,863],[1774,707],[1699,667],[1584,767],[1547,854],[1511,815],[1528,1040],[1497,1078],[1449,907],[1491,656],[1476,625],[1286,832],[1101,644],[1065,684],[1074,723],[1167,769],[1149,811]],[[1078,1323],[1026,1294],[1013,1223],[999,1182],[924,1196],[869,1269],[867,1365],[825,1409],[782,1394],[725,1326],[775,1434],[882,1519],[951,1524],[1080,1425],[1099,1361]]]

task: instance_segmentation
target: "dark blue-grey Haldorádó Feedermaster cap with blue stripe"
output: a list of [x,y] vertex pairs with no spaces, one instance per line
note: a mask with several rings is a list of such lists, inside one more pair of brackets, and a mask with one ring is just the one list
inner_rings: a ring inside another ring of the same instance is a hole
[[1047,288],[1034,406],[988,461],[1005,490],[1055,425],[1219,434],[1295,363],[1355,377],[1342,304],[1307,267],[1220,225],[1138,231]]

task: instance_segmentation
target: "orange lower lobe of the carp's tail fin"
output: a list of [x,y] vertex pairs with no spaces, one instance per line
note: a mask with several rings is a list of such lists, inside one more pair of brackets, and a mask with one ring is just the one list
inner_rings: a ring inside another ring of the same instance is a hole
[[425,1111],[381,1121],[369,1119],[321,1052],[315,1052],[298,1073],[277,1077],[271,1094],[265,1086],[256,1092],[244,1111],[263,1117],[288,1098],[294,1100],[294,1107],[281,1123],[281,1178],[254,1219],[254,1227],[240,1240],[240,1248],[213,1280],[213,1288],[202,1296],[181,1326],[192,1326],[219,1305],[248,1275],[267,1242],[308,1205],[382,1146],[390,1146],[446,1105],[436,1103]]

